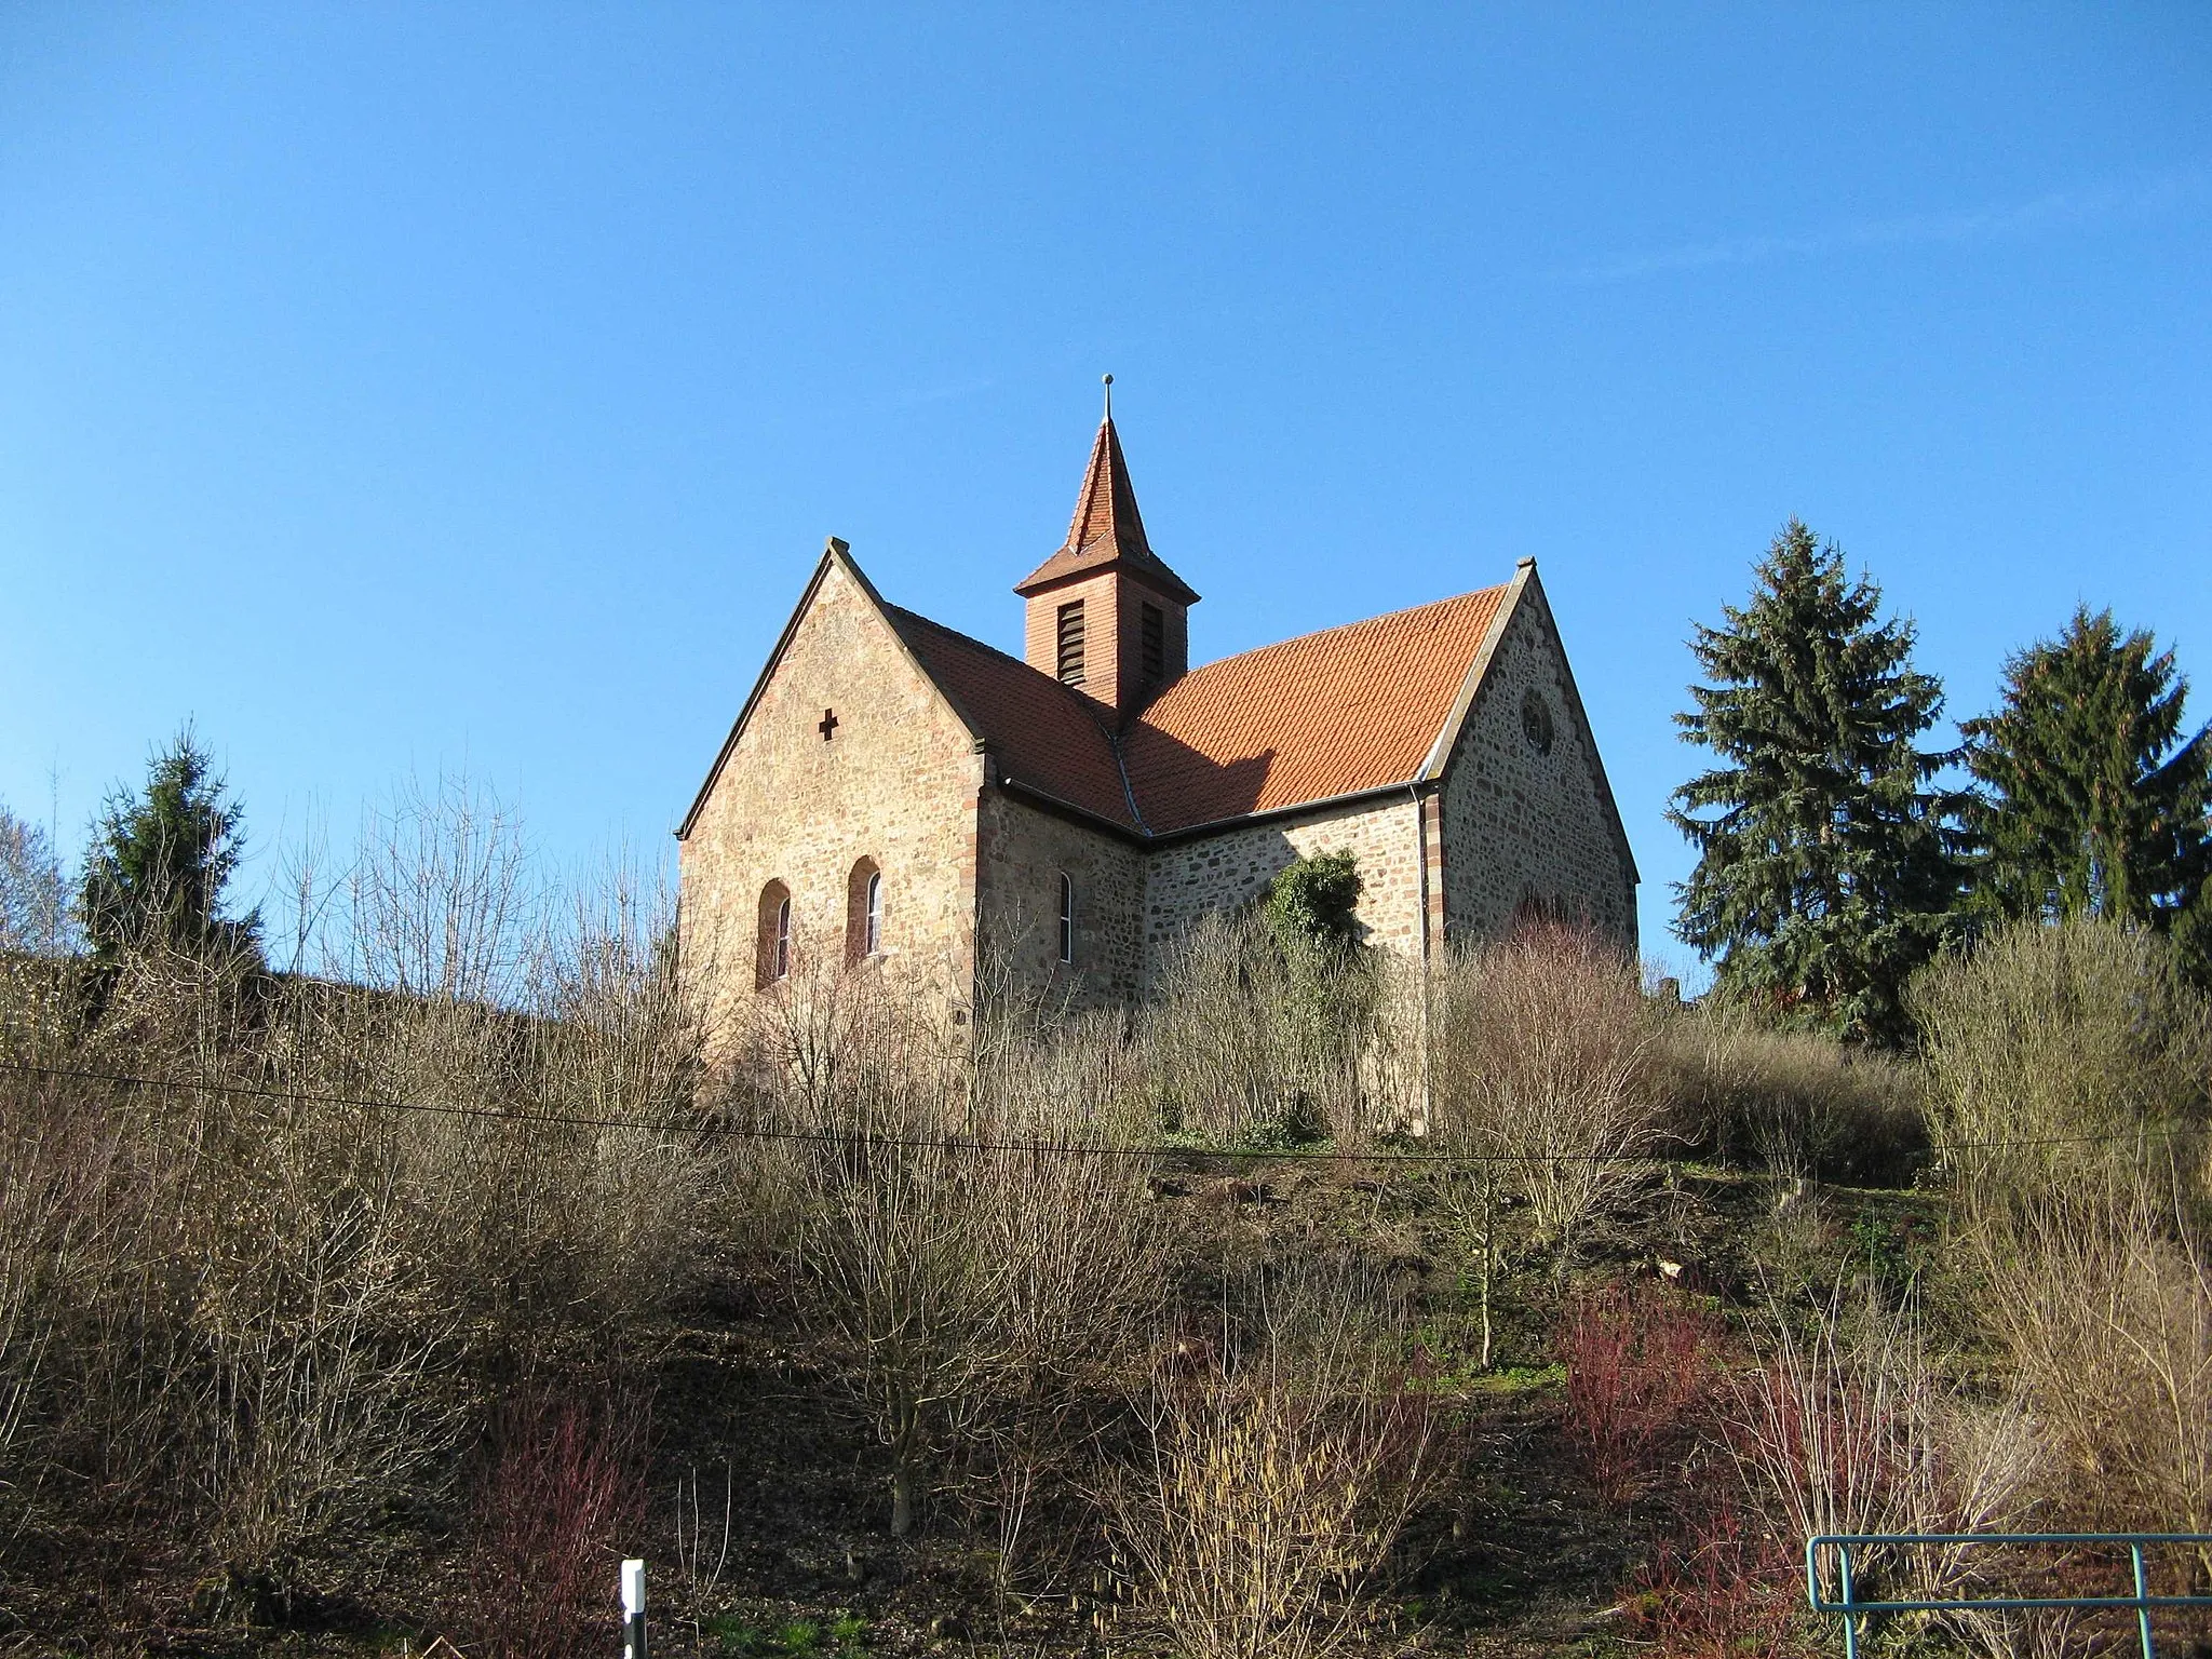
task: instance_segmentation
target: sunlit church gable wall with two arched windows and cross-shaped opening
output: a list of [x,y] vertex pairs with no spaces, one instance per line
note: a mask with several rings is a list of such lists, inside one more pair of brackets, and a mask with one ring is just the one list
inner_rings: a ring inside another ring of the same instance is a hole
[[843,960],[847,880],[874,858],[885,967],[964,1000],[980,781],[967,728],[832,564],[679,849],[684,960],[717,975],[726,1006],[754,995],[770,880],[790,887],[794,945]]

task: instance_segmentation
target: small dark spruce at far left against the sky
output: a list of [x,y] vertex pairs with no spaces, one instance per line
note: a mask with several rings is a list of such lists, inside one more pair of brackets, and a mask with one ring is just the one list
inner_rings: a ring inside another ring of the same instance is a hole
[[77,918],[93,960],[113,967],[133,951],[259,962],[261,916],[232,918],[223,887],[237,874],[243,810],[192,730],[159,750],[146,792],[108,796],[84,858]]

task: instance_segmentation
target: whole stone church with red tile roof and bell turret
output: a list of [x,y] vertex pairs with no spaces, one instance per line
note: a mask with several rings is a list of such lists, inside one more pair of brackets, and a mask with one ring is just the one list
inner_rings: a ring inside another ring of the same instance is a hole
[[1077,1004],[1301,854],[1349,849],[1365,936],[1425,960],[1528,916],[1635,947],[1637,867],[1535,560],[1506,582],[1190,666],[1199,595],[1152,551],[1113,414],[1009,657],[889,604],[832,540],[677,832],[684,949],[998,953]]

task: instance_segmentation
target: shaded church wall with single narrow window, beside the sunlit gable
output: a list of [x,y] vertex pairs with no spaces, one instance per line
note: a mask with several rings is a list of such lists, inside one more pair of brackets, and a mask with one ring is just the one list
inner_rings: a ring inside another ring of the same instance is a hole
[[[982,938],[1020,987],[1073,1006],[1133,1002],[1144,984],[1144,852],[991,790],[975,860]],[[1060,874],[1075,883],[1075,962],[1060,962]]]

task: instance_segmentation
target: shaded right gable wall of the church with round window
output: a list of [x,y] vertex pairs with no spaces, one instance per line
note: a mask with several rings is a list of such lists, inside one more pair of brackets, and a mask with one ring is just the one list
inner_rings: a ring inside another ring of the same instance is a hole
[[[1524,732],[1528,692],[1551,717],[1551,752]],[[1593,739],[1566,697],[1566,653],[1542,588],[1498,641],[1444,770],[1444,936],[1495,938],[1524,902],[1637,942],[1637,889],[1593,776]]]

